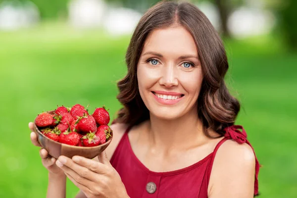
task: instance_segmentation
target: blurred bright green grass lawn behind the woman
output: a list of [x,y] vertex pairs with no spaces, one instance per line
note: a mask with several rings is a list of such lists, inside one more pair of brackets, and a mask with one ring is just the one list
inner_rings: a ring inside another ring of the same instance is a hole
[[[57,104],[120,108],[116,81],[126,72],[129,37],[44,24],[0,32],[0,197],[40,198],[47,170],[30,142],[28,122]],[[297,197],[297,54],[273,37],[226,41],[227,82],[241,100],[237,124],[262,164],[260,198]],[[78,189],[67,182],[67,197]]]

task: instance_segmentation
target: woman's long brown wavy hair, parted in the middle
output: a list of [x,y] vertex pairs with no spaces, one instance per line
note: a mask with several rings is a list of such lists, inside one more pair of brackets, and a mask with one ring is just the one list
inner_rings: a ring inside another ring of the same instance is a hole
[[224,82],[229,66],[220,36],[198,7],[189,2],[161,1],[140,19],[126,53],[127,75],[117,83],[117,99],[124,107],[118,111],[115,122],[136,125],[149,119],[148,108],[138,89],[137,64],[148,34],[173,24],[186,28],[197,45],[203,73],[198,96],[198,117],[203,132],[210,137],[207,131],[213,129],[222,136],[223,128],[234,124],[240,103],[230,95]]

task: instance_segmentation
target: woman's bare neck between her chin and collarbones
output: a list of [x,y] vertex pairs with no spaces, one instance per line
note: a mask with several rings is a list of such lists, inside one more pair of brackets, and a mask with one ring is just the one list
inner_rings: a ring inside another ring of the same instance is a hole
[[150,115],[149,140],[163,149],[187,149],[205,140],[202,123],[197,111],[188,112],[173,120],[164,120]]

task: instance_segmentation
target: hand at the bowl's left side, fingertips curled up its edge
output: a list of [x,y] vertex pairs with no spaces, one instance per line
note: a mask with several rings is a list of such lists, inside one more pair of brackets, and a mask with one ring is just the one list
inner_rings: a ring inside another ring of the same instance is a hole
[[48,151],[46,149],[42,148],[42,146],[39,144],[39,142],[37,140],[37,136],[34,133],[33,127],[34,127],[33,122],[30,122],[29,128],[32,131],[30,134],[31,142],[34,146],[41,148],[39,150],[39,154],[41,156],[41,162],[42,162],[43,166],[49,170],[49,173],[52,173],[56,176],[64,175],[63,171],[59,167],[56,166],[56,164],[55,164],[56,159],[54,157],[51,157],[49,155]]

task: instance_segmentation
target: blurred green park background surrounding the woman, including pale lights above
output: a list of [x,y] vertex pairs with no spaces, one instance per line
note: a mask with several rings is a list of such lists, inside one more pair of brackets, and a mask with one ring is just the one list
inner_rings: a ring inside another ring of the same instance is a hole
[[[0,0],[0,197],[46,197],[28,122],[56,105],[121,105],[116,82],[142,14],[158,0]],[[221,34],[260,198],[297,198],[297,0],[190,0]],[[67,198],[78,189],[68,180]]]

